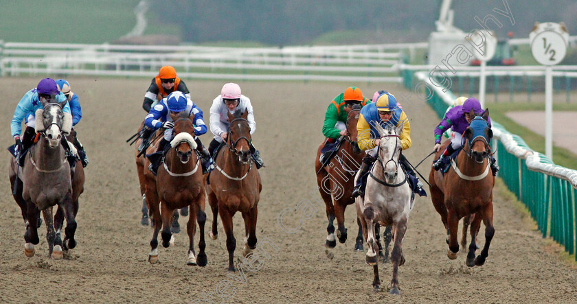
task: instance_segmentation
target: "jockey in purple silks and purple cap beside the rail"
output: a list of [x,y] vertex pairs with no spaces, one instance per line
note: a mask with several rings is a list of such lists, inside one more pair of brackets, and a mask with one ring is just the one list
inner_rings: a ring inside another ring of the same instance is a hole
[[[463,98],[463,97],[460,97]],[[435,152],[439,152],[441,149],[441,136],[444,130],[448,130],[451,128],[451,144],[446,146],[443,154],[439,157],[435,163],[433,163],[433,169],[438,170],[444,167],[447,163],[449,163],[451,159],[451,154],[453,154],[457,149],[462,147],[461,139],[463,137],[463,132],[465,132],[466,128],[469,124],[471,124],[471,120],[475,117],[471,117],[471,110],[475,113],[475,115],[482,115],[483,110],[481,108],[481,103],[479,100],[471,97],[465,100],[462,106],[454,106],[451,108],[447,113],[445,113],[443,119],[438,124],[437,128],[435,128],[435,147],[433,150]],[[489,128],[491,126],[491,119],[488,118]],[[499,167],[495,163],[495,159],[491,156],[490,159],[490,166],[491,171],[493,172],[493,176],[497,174],[499,171]]]

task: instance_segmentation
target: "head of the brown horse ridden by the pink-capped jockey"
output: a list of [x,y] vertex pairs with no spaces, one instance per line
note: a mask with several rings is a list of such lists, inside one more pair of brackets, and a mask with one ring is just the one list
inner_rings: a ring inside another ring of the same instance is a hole
[[234,115],[230,112],[228,113],[230,127],[228,131],[227,145],[229,146],[229,149],[238,156],[240,163],[243,164],[248,163],[251,156],[250,145],[252,138],[251,127],[247,120],[248,116],[248,109],[245,110],[245,113],[240,113],[240,110],[237,110]]

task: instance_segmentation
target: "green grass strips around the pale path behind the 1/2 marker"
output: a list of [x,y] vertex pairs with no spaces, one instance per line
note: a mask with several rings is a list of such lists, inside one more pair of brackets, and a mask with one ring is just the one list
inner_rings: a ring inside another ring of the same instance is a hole
[[[545,104],[507,103],[490,104],[491,119],[499,122],[504,128],[514,135],[519,135],[525,143],[536,152],[545,154],[545,138],[528,128],[515,123],[506,116],[507,112],[523,110],[544,110]],[[556,111],[577,111],[577,104],[554,104]],[[569,169],[577,169],[577,154],[565,148],[553,146],[553,162]]]

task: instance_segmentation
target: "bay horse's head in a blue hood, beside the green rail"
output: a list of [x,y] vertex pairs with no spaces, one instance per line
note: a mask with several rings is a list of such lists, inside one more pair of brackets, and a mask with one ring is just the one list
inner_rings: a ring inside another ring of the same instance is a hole
[[471,119],[471,124],[463,133],[463,150],[477,163],[483,163],[489,157],[489,142],[493,138],[493,131],[489,128],[488,117],[489,109],[486,109],[482,116]]

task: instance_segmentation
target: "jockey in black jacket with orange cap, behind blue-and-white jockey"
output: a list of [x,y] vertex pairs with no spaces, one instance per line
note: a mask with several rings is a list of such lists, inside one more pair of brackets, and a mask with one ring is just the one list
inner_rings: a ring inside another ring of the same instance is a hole
[[[160,68],[158,75],[155,78],[152,78],[152,82],[150,82],[150,86],[148,86],[148,90],[146,91],[146,94],[144,94],[142,108],[144,108],[147,113],[150,113],[150,109],[156,106],[160,100],[167,97],[168,94],[176,91],[182,92],[186,98],[190,100],[190,92],[188,91],[186,84],[177,77],[177,70],[170,65],[165,65]],[[138,146],[139,151],[142,151],[144,146],[149,143],[150,135],[152,135],[152,133],[152,130],[145,126],[141,134],[143,140]]]

